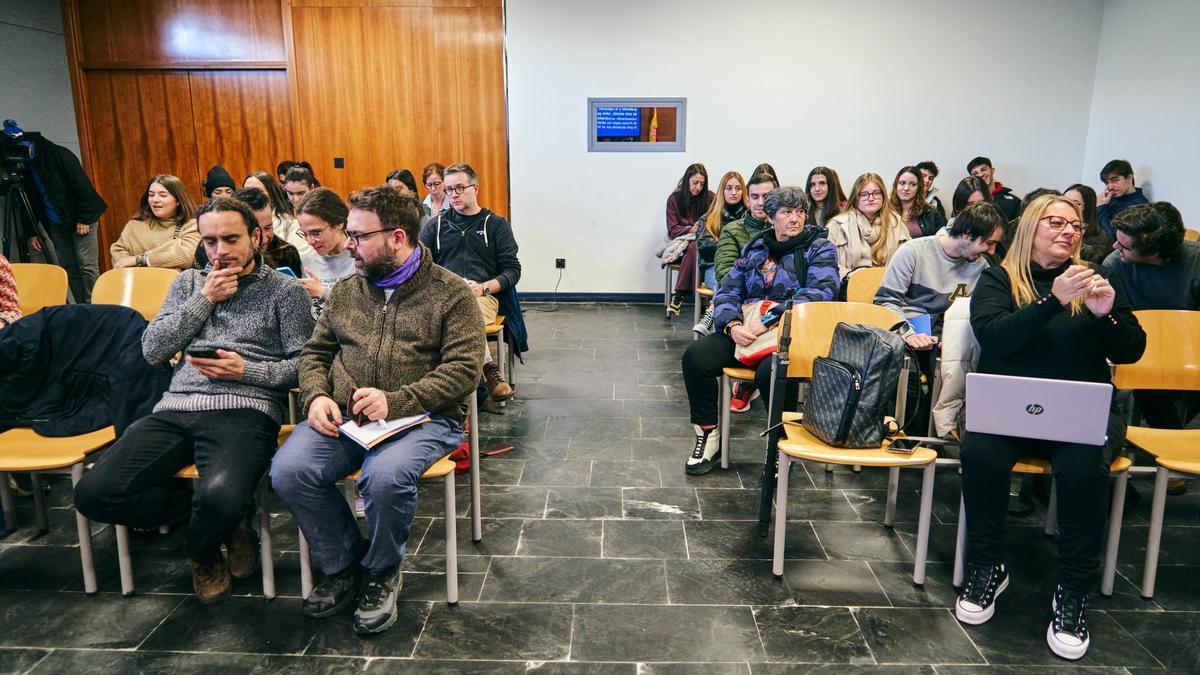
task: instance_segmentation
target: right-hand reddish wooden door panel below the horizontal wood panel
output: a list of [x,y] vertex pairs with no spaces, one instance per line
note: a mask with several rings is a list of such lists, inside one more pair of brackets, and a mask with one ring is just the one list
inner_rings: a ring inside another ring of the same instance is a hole
[[275,175],[295,155],[287,72],[192,71],[190,83],[200,180],[221,165],[241,185],[251,171]]

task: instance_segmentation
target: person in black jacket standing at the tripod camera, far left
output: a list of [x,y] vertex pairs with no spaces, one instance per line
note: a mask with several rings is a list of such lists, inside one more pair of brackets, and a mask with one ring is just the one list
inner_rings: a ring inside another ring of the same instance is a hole
[[[67,270],[71,297],[76,303],[90,303],[91,287],[100,276],[96,221],[108,204],[96,193],[74,153],[36,131],[23,132],[16,138],[30,154],[30,171],[23,185],[34,215],[46,226],[59,264]],[[32,232],[25,234],[30,246],[41,251],[42,244]]]

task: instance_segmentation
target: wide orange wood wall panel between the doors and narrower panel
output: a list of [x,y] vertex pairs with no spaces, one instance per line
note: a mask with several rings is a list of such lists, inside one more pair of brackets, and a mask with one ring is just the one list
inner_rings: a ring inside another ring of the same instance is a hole
[[346,195],[443,156],[431,20],[427,7],[293,7],[299,156],[323,185]]

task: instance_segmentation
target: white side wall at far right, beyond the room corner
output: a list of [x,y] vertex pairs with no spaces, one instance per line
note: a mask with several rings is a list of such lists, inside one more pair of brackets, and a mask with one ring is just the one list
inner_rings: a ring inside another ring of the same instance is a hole
[[1133,165],[1151,199],[1200,229],[1200,2],[1109,0],[1097,58],[1084,178],[1112,159]]

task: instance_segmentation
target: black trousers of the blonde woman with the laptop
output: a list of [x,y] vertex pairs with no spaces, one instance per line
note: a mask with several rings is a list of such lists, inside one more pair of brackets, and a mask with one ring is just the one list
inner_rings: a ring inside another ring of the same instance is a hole
[[967,515],[966,562],[1004,562],[1008,486],[1021,456],[1049,459],[1058,491],[1058,583],[1090,592],[1099,577],[1108,512],[1108,467],[1124,441],[1120,411],[1109,416],[1105,446],[1056,443],[992,434],[962,438],[962,500]]

